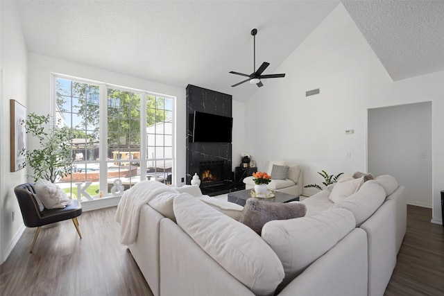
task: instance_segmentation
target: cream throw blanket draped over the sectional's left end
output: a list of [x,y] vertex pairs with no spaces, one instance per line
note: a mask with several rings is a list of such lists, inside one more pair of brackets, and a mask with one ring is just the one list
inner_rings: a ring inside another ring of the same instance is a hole
[[131,245],[137,237],[139,216],[142,205],[148,203],[160,193],[178,194],[174,187],[166,186],[157,181],[142,181],[123,193],[117,206],[116,221],[120,223],[120,243]]

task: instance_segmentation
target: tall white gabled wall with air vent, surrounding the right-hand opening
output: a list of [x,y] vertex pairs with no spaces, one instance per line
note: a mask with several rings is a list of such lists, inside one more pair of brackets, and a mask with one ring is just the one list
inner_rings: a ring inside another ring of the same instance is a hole
[[[433,218],[441,219],[444,72],[393,82],[340,3],[275,73],[287,76],[264,80],[246,103],[246,150],[259,170],[269,159],[297,161],[305,184],[321,183],[322,169],[367,171],[368,108],[432,101]],[[321,94],[305,97],[316,88]]]

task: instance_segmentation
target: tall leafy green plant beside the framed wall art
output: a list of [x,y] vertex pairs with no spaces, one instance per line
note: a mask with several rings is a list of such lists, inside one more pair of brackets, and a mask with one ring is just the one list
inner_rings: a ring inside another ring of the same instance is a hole
[[34,112],[28,114],[22,122],[26,133],[32,134],[39,141],[38,148],[28,150],[23,148],[21,154],[25,157],[22,165],[30,166],[34,182],[39,179],[49,180],[54,183],[58,178],[71,173],[71,164],[74,159],[71,155],[71,144],[74,135],[66,126],[51,120],[51,115],[37,115]]

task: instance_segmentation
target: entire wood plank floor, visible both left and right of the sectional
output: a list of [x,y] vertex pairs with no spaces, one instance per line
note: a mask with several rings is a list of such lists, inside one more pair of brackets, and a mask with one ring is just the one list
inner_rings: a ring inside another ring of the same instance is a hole
[[[79,217],[83,238],[71,220],[26,229],[0,267],[0,295],[152,295],[127,247],[119,243],[116,207]],[[386,296],[444,295],[444,227],[430,223],[432,210],[408,206],[407,234]]]

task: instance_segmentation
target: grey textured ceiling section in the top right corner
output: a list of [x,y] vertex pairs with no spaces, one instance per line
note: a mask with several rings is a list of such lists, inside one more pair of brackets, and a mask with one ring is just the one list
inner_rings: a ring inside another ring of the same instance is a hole
[[444,70],[444,1],[342,1],[393,80]]

